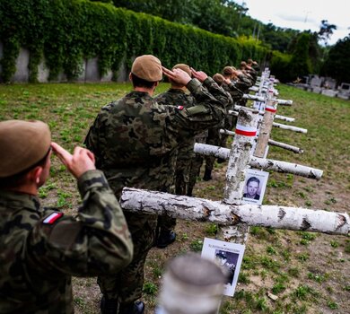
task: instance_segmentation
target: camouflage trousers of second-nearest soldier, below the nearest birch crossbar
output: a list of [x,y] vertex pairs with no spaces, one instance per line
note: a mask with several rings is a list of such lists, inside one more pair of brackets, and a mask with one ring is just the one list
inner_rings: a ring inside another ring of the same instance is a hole
[[144,287],[144,263],[155,240],[157,215],[124,213],[134,242],[131,263],[117,275],[99,276],[101,292],[119,303],[131,303],[142,297]]

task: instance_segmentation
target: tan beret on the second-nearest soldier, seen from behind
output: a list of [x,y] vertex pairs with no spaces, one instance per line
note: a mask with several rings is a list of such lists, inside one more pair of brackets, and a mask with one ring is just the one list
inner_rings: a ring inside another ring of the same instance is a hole
[[152,55],[136,57],[131,73],[137,77],[148,81],[158,82],[162,80],[162,63],[161,60]]

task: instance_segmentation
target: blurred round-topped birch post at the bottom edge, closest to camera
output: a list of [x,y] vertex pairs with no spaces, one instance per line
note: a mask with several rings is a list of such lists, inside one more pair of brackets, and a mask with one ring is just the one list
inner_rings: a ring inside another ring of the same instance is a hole
[[216,314],[225,279],[214,261],[194,253],[176,257],[163,275],[155,314]]

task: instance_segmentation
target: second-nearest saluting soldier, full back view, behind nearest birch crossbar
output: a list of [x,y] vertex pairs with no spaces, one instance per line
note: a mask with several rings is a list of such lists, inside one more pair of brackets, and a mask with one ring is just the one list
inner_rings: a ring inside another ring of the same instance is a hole
[[[153,100],[162,73],[186,85],[197,106],[186,109],[182,104],[166,106]],[[130,80],[134,91],[101,109],[85,144],[95,153],[98,167],[117,196],[124,187],[168,191],[179,142],[219,123],[225,114],[224,104],[197,79],[180,69],[163,68],[160,60],[150,55],[136,57]],[[215,92],[221,93],[217,85]],[[135,245],[134,259],[117,276],[99,277],[98,283],[108,304],[118,301],[118,313],[143,313],[143,302],[136,300],[142,296],[144,262],[153,247],[157,215],[126,213],[126,217]]]

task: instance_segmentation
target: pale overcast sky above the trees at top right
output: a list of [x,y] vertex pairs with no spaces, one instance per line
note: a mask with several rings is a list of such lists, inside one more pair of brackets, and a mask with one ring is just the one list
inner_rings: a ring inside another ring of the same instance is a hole
[[335,24],[328,45],[337,39],[343,39],[350,33],[349,0],[235,0],[237,4],[245,3],[248,15],[267,24],[300,31],[319,31],[322,20]]

